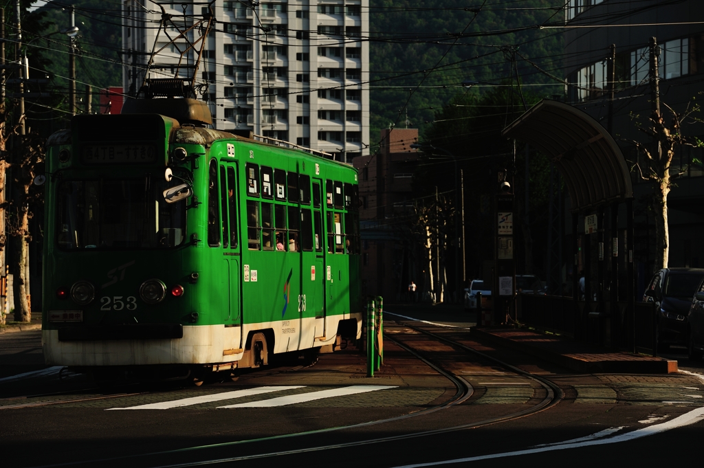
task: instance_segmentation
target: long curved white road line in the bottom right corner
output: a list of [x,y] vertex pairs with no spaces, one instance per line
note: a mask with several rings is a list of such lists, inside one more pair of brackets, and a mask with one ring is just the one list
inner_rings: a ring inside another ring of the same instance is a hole
[[[406,465],[402,465],[402,466],[395,467],[395,468],[435,467],[435,466],[441,465],[441,464],[478,462],[479,460],[493,460],[496,458],[517,457],[520,455],[532,455],[534,453],[552,452],[554,450],[567,450],[568,448],[583,448],[583,447],[589,447],[590,445],[605,445],[608,443],[627,442],[627,441],[633,441],[636,438],[660,434],[661,432],[670,431],[670,429],[675,429],[677,427],[689,426],[689,424],[701,422],[702,420],[704,420],[704,407],[697,408],[696,410],[691,410],[690,412],[686,412],[684,415],[676,417],[676,418],[674,418],[670,421],[667,421],[667,422],[662,422],[660,424],[654,424],[653,426],[643,427],[643,429],[636,429],[635,431],[630,431],[630,432],[627,432],[626,434],[620,434],[618,436],[600,438],[598,440],[593,440],[593,441],[583,441],[583,442],[574,442],[574,443],[567,441],[565,443],[548,445],[546,447],[529,448],[527,450],[516,450],[515,452],[492,453],[491,455],[479,455],[477,457],[456,458],[455,460],[444,460],[441,462],[406,464]],[[599,433],[597,433],[597,434],[599,434]]]

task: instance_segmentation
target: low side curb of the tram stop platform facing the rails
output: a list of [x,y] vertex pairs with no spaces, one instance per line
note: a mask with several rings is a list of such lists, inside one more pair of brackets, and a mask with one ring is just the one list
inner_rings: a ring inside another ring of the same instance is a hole
[[[520,343],[512,339],[498,336],[484,329],[472,328],[474,336],[479,336],[500,343],[503,346],[508,346],[515,350],[520,350],[523,353],[533,355],[536,358],[552,362],[553,364],[567,367],[576,372],[593,374],[593,373],[614,373],[614,374],[676,374],[677,361],[665,360],[661,358],[648,358],[643,360],[598,360],[587,361],[574,356],[553,353],[550,350],[540,348],[539,346],[530,346],[525,343]],[[617,353],[631,357],[631,354]]]

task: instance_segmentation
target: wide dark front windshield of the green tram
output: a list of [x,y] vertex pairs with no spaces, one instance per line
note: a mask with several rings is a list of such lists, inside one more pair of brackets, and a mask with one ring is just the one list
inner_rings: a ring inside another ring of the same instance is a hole
[[183,243],[186,200],[166,203],[162,192],[180,182],[161,177],[66,180],[58,184],[59,248],[168,248]]

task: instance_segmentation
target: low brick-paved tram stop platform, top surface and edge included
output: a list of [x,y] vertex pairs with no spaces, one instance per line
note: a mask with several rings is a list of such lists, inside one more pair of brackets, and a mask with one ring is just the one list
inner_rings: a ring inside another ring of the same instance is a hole
[[477,339],[488,339],[512,346],[524,353],[554,362],[576,372],[620,372],[635,374],[672,374],[677,361],[633,353],[614,353],[589,343],[577,343],[560,336],[545,335],[524,329],[473,328]]

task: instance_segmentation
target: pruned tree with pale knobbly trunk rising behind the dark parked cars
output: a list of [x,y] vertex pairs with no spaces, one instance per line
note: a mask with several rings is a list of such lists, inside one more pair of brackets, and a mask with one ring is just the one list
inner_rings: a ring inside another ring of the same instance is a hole
[[[686,137],[682,134],[682,125],[688,121],[700,122],[693,114],[700,110],[698,104],[688,103],[686,108],[677,112],[667,104],[662,103],[662,106],[667,108],[670,119],[665,120],[660,113],[658,106],[657,111],[653,111],[648,118],[648,125],[643,126],[638,123],[639,130],[653,139],[654,144],[648,148],[648,144],[643,144],[640,141],[629,141],[638,148],[639,153],[643,155],[643,166],[639,161],[631,161],[631,170],[636,170],[639,177],[643,180],[653,182],[653,198],[651,208],[655,217],[655,271],[660,268],[667,268],[667,263],[670,257],[670,229],[667,221],[667,196],[672,189],[673,179],[677,179],[684,172],[670,171],[672,158],[677,146],[704,146],[702,142],[695,137]],[[631,118],[638,118],[638,115],[631,114]]]

